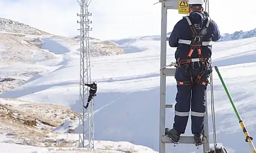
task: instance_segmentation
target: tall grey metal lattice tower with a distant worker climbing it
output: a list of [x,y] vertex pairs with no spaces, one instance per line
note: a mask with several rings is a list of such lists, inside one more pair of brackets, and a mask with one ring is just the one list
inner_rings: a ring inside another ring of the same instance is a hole
[[[88,12],[88,5],[91,1],[76,0],[80,5],[80,100],[82,113],[79,118],[79,125],[82,125],[82,133],[79,133],[79,147],[94,149],[94,127],[93,127],[93,100],[87,109],[84,108],[87,103],[89,95],[88,86],[85,83],[91,83],[91,61],[90,61],[90,42],[89,31],[91,21],[89,17],[91,13]],[[87,121],[85,123],[85,121]],[[87,145],[88,143],[88,145]]]

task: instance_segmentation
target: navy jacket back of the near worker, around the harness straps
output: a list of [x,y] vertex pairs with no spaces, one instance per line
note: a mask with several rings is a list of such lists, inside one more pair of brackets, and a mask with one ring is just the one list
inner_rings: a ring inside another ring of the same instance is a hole
[[[197,33],[207,25],[207,15],[201,12],[193,12],[190,13],[189,19],[192,25],[197,29]],[[207,28],[207,33],[203,37],[203,41],[218,41],[221,38],[219,33],[218,26],[216,23],[211,20],[209,28]],[[192,32],[187,20],[183,17],[175,26],[169,38],[169,46],[177,47],[177,51],[175,52],[175,58],[177,59],[187,59],[187,55],[189,54],[190,45],[189,44],[180,44],[178,40],[191,40]],[[210,58],[212,56],[212,46],[201,46],[201,52],[203,58]],[[192,58],[198,58],[198,53],[192,53]]]

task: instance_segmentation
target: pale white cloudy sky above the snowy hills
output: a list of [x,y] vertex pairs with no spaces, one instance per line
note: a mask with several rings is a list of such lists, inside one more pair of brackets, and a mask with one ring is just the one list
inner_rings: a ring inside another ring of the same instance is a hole
[[[160,35],[161,4],[158,0],[92,0],[90,37],[103,40],[142,35]],[[255,0],[209,0],[210,17],[221,33],[256,28]],[[0,17],[16,20],[57,35],[76,35],[79,24],[76,0],[0,0]],[[183,15],[168,10],[168,28],[172,31]]]

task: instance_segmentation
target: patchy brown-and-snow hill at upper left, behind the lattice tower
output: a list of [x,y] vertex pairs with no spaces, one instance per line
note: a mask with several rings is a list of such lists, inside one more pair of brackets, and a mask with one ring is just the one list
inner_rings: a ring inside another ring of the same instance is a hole
[[[35,74],[58,68],[67,61],[62,55],[80,53],[76,38],[52,35],[13,20],[0,18],[0,31],[0,92],[22,85]],[[91,41],[91,56],[122,53],[111,41]],[[56,67],[47,68],[53,65]]]

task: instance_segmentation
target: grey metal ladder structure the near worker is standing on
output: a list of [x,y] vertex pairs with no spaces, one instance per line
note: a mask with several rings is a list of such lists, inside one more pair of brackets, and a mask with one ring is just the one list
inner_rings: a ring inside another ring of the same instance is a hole
[[[188,1],[188,0],[184,0]],[[159,153],[165,153],[165,144],[172,143],[169,137],[165,136],[165,109],[172,108],[172,104],[166,104],[166,77],[174,76],[175,68],[163,68],[166,65],[166,40],[167,37],[167,10],[178,10],[178,0],[160,0],[162,2],[162,20],[161,20],[161,44],[160,44],[160,125],[159,125]],[[162,69],[163,68],[163,69]],[[207,99],[207,97],[206,97]],[[210,150],[209,144],[209,125],[206,101],[206,116],[204,118],[204,140],[203,151]],[[179,143],[194,143],[193,136],[181,136]]]

